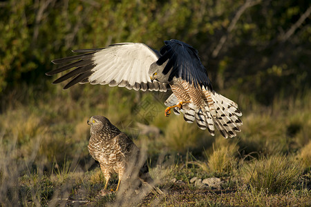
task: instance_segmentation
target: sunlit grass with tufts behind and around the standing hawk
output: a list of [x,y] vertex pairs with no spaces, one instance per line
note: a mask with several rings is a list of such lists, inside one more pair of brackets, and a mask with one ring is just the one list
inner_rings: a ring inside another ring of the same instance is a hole
[[[182,116],[164,117],[160,93],[53,87],[49,95],[23,88],[1,100],[0,206],[124,204],[115,194],[98,197],[104,177],[87,149],[86,120],[92,115],[108,117],[147,151],[151,176],[167,193],[124,199],[127,204],[311,205],[310,92],[271,106],[242,103],[242,132],[223,139]],[[190,183],[193,177],[220,177],[225,184],[220,190],[199,188]],[[116,185],[113,177],[109,186]]]

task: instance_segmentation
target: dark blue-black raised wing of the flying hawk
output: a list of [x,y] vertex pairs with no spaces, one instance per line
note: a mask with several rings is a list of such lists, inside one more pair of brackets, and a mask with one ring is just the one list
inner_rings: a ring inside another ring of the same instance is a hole
[[207,70],[198,57],[198,50],[176,39],[164,41],[164,43],[165,46],[160,50],[162,57],[158,59],[157,63],[162,65],[169,59],[163,70],[164,75],[170,72],[169,81],[173,77],[180,77],[189,83],[194,83],[196,87],[205,86],[205,88],[212,90]]

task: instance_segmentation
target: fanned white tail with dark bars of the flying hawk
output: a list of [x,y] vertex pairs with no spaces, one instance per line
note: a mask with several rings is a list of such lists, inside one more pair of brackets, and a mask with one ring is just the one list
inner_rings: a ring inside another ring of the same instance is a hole
[[[242,112],[238,110],[238,104],[234,101],[223,97],[215,91],[205,90],[204,103],[196,106],[194,103],[186,103],[182,109],[173,108],[176,115],[180,112],[184,115],[185,121],[196,124],[202,130],[209,130],[211,135],[215,135],[215,126],[223,137],[235,137],[236,132],[240,132],[239,126],[243,123],[239,117]],[[172,94],[164,104],[166,106],[173,106],[178,103],[178,99]]]

